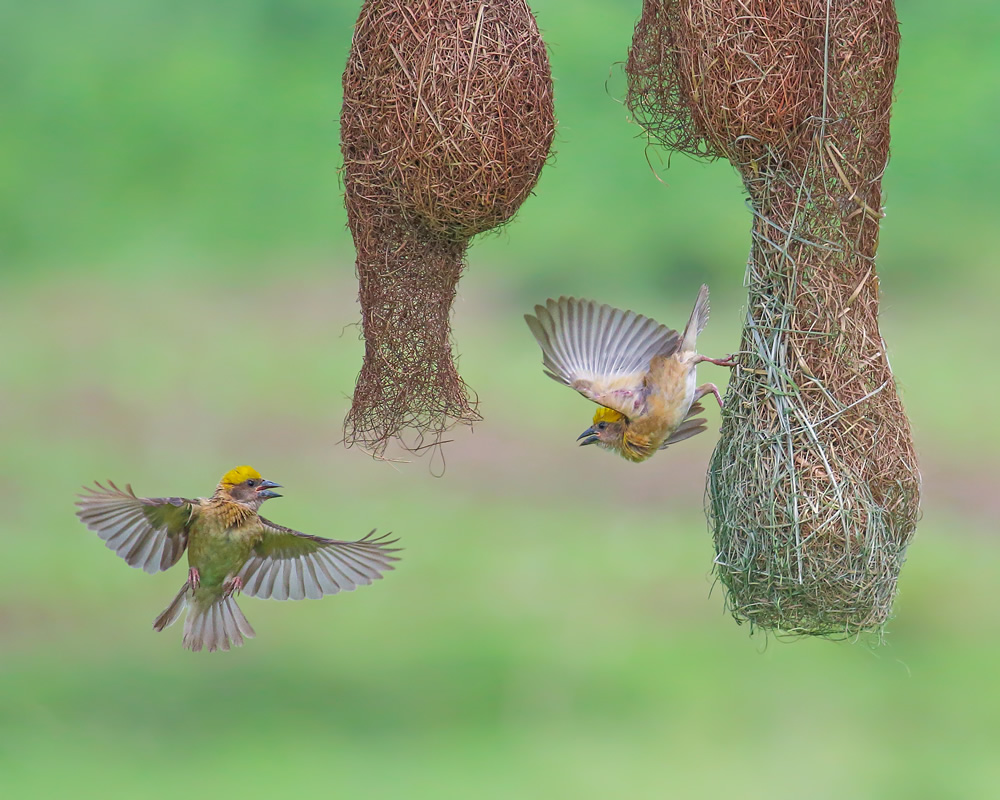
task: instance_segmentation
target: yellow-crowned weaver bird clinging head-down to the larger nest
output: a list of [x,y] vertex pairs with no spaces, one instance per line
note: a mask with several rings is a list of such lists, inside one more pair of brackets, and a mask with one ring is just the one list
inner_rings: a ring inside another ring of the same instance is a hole
[[706,420],[694,418],[705,410],[697,401],[713,394],[721,408],[722,398],[715,384],[696,386],[697,366],[734,365],[695,350],[708,310],[702,286],[683,334],[633,311],[574,297],[548,300],[524,315],[542,348],[545,374],[601,406],[578,437],[581,445],[645,461],[705,430]]

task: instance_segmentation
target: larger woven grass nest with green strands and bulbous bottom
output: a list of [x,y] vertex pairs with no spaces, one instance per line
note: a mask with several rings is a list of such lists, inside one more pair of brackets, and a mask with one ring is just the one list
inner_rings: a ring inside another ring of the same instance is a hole
[[878,327],[899,36],[891,0],[646,0],[628,105],[740,171],[749,302],[706,497],[738,622],[881,631],[919,513]]

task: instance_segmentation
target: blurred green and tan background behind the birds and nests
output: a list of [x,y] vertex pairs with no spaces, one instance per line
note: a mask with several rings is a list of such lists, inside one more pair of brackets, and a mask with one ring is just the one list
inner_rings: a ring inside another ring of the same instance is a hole
[[[556,155],[455,307],[485,421],[443,478],[338,444],[362,352],[337,133],[358,6],[0,6],[0,794],[991,795],[1000,6],[900,8],[879,269],[925,498],[881,647],[737,627],[702,514],[714,435],[638,468],[580,452],[591,408],[539,368],[521,314],[550,294],[679,326],[707,280],[703,351],[738,340],[739,180],[668,168],[618,102],[638,0],[532,2]],[[197,496],[238,463],[287,487],[277,521],[393,530],[405,560],[342,597],[245,599],[256,640],[188,653],[150,628],[183,569],[128,569],[73,495]]]

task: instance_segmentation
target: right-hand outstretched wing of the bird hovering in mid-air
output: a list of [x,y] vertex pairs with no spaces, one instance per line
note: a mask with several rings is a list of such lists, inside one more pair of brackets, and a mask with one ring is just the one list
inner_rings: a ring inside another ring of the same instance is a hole
[[393,569],[397,539],[375,531],[356,542],[323,539],[260,518],[264,536],[240,570],[243,593],[275,600],[315,599],[367,586]]

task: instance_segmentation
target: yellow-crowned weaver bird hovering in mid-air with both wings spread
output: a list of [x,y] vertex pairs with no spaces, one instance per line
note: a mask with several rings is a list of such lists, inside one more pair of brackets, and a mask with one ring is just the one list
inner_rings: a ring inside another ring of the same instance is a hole
[[261,504],[281,497],[253,467],[227,472],[208,498],[136,497],[111,481],[84,487],[76,512],[81,521],[130,567],[153,573],[176,564],[188,551],[188,579],[153,622],[162,631],[189,607],[184,647],[228,650],[253,638],[233,593],[275,600],[301,600],[349,592],[382,577],[398,558],[397,540],[375,537],[356,542],[321,539],[275,525],[257,514]]

